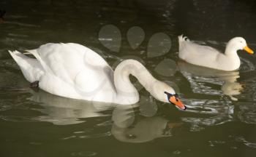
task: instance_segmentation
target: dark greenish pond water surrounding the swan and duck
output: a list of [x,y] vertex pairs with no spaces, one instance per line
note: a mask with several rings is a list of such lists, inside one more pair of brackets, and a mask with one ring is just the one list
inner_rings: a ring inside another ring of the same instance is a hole
[[[213,71],[178,60],[176,39],[223,50],[244,36],[255,50],[254,8],[249,0],[1,0],[0,156],[255,156],[255,55],[238,52],[239,71]],[[136,80],[140,102],[129,106],[29,89],[7,49],[48,42],[83,44],[113,68],[140,60],[188,110],[154,100]]]

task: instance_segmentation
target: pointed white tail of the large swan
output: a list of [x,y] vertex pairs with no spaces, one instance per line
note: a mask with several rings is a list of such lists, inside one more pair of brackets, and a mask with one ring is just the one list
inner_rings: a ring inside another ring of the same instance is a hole
[[18,51],[8,51],[12,56],[13,60],[19,65],[20,70],[29,82],[38,81],[39,77],[42,76],[42,66],[36,59],[27,57]]

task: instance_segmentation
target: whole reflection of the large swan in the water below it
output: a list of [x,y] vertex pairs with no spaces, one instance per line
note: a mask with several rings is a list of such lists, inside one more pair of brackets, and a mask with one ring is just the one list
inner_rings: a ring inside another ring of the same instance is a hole
[[[86,118],[110,116],[104,114],[103,111],[111,110],[112,118],[106,117],[106,123],[103,124],[111,125],[110,133],[122,142],[147,142],[158,137],[169,137],[171,129],[182,124],[181,122],[170,122],[166,118],[154,116],[157,113],[157,104],[154,99],[148,100],[148,97],[142,96],[140,104],[137,105],[111,105],[102,102],[92,103],[72,100],[48,94],[41,90],[32,94],[30,100],[39,102],[42,108],[37,110],[45,114],[39,116],[37,120],[48,121],[56,125],[79,124],[86,121]],[[139,110],[140,114],[135,114],[136,110]],[[137,119],[138,116],[140,116],[139,119]],[[110,119],[112,122],[109,124],[107,122]],[[101,126],[101,124],[98,126]],[[86,132],[86,136],[83,134],[80,137],[93,137],[93,134],[95,132],[91,129],[91,132]],[[106,133],[102,134],[108,135]],[[75,135],[77,136],[77,134]]]

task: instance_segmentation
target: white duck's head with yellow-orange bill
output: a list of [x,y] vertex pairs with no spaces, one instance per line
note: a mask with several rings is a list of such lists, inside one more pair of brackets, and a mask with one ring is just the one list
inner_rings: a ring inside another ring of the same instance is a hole
[[233,47],[234,49],[237,49],[237,50],[245,50],[246,52],[248,52],[249,54],[253,54],[253,51],[252,49],[250,49],[247,44],[246,44],[246,41],[244,38],[242,37],[235,37],[233,39],[231,39],[229,42],[228,42],[228,45],[230,45],[230,47]]

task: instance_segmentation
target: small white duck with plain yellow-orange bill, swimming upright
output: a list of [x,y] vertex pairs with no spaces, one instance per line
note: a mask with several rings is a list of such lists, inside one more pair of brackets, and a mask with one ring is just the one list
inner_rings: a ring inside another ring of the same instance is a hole
[[182,60],[222,71],[235,71],[240,67],[241,62],[237,50],[244,49],[249,54],[253,54],[252,49],[247,47],[246,41],[242,37],[235,37],[228,41],[225,53],[212,47],[195,44],[182,35],[178,36],[178,44],[178,57]]

